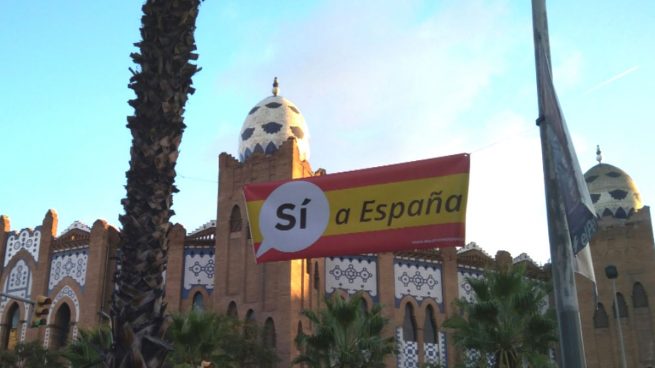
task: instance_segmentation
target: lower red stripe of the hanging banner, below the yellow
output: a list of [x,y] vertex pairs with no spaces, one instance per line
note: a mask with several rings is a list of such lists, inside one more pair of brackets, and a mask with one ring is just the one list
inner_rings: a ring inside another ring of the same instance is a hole
[[[284,253],[271,249],[257,258],[257,263],[290,259],[346,256],[412,249],[463,246],[464,223],[419,226],[404,229],[326,236],[299,252]],[[417,243],[417,240],[431,242]],[[255,249],[260,243],[255,244]]]

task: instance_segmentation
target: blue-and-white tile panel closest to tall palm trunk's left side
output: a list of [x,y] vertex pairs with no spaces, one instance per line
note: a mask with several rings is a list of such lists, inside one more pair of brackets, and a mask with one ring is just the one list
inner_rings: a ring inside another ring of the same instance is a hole
[[54,253],[50,262],[48,291],[52,291],[67,276],[77,281],[83,288],[86,283],[88,261],[88,246]]

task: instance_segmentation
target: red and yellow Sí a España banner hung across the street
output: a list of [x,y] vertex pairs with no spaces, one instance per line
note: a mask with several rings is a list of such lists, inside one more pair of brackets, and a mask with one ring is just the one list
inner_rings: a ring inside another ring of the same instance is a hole
[[470,156],[244,186],[257,263],[464,245]]

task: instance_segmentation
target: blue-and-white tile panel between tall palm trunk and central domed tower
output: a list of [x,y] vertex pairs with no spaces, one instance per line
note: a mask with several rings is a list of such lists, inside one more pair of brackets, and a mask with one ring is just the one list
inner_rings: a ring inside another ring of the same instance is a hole
[[189,296],[195,286],[202,286],[208,293],[214,291],[216,261],[213,247],[187,247],[184,249],[184,284],[182,298]]

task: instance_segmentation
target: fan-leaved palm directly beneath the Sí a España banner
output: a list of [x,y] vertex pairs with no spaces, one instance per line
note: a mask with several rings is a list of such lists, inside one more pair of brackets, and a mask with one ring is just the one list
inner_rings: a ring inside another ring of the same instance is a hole
[[293,364],[309,368],[377,368],[395,352],[393,337],[382,337],[388,320],[382,307],[364,308],[361,295],[348,300],[333,295],[326,299],[325,308],[303,314],[314,326],[313,335],[299,334],[296,344],[301,354]]

